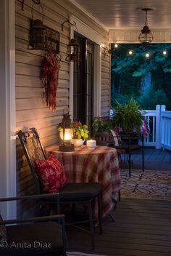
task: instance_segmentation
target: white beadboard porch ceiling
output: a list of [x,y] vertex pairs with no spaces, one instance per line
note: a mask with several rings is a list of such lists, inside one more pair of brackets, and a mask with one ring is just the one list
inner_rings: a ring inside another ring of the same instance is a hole
[[88,12],[107,30],[141,29],[145,12],[138,8],[154,8],[147,13],[149,28],[171,28],[171,0],[70,0]]

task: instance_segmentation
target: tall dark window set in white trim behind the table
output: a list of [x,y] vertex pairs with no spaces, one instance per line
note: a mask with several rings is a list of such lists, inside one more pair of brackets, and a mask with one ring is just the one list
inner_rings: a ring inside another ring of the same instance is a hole
[[94,44],[88,39],[75,36],[80,44],[81,61],[74,64],[73,119],[92,128],[93,120],[93,55]]

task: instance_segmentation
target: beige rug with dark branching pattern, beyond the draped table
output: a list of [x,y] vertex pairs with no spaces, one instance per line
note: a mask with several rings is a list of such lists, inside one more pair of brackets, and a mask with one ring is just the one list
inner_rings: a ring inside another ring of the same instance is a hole
[[171,200],[171,171],[131,170],[120,171],[122,198]]

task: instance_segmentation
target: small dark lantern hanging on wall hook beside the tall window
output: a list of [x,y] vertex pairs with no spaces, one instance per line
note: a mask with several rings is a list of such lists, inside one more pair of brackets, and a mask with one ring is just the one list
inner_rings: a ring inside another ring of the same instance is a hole
[[76,39],[71,39],[70,44],[67,45],[67,61],[79,61],[80,59],[80,45]]

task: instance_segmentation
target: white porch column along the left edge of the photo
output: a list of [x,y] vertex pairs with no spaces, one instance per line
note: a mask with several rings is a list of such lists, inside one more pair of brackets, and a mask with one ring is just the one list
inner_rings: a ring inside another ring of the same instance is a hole
[[[0,1],[0,197],[16,195],[14,0]],[[3,217],[15,217],[14,204],[2,204]]]

